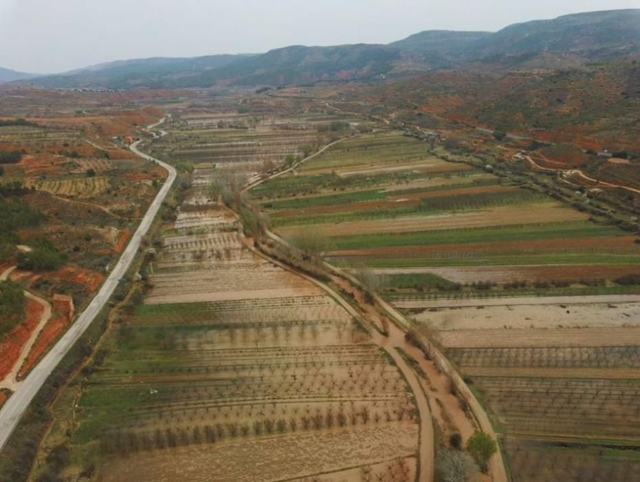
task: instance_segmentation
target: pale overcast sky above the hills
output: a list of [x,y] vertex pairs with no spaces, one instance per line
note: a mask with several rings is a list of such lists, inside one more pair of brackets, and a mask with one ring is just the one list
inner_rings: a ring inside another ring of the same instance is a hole
[[640,0],[0,0],[0,67],[49,74],[119,59],[389,43]]

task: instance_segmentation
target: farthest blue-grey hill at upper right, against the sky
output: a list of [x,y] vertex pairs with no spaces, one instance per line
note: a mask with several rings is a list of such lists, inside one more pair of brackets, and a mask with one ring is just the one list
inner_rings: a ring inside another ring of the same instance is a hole
[[520,67],[534,59],[535,66],[557,67],[557,57],[573,65],[612,60],[640,54],[640,10],[564,15],[515,23],[495,33],[427,30],[390,45],[437,59],[440,67],[482,63]]

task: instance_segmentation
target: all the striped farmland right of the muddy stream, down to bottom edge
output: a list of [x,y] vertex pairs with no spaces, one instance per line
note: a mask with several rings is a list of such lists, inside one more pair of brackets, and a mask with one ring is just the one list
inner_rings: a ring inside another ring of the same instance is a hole
[[282,238],[314,233],[329,262],[373,275],[440,346],[514,481],[636,480],[637,236],[429,151],[356,136],[253,201]]

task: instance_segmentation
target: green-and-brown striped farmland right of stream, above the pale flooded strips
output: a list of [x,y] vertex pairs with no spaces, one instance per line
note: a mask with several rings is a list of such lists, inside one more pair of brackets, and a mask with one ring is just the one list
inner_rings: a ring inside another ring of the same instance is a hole
[[548,194],[380,130],[332,145],[252,189],[274,231],[326,239],[388,299],[639,293],[636,236]]

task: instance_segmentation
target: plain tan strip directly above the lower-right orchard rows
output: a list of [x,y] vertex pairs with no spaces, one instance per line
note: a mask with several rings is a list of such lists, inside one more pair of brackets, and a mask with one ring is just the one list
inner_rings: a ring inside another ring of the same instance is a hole
[[640,345],[640,328],[486,329],[438,331],[445,348],[486,346],[634,346]]

